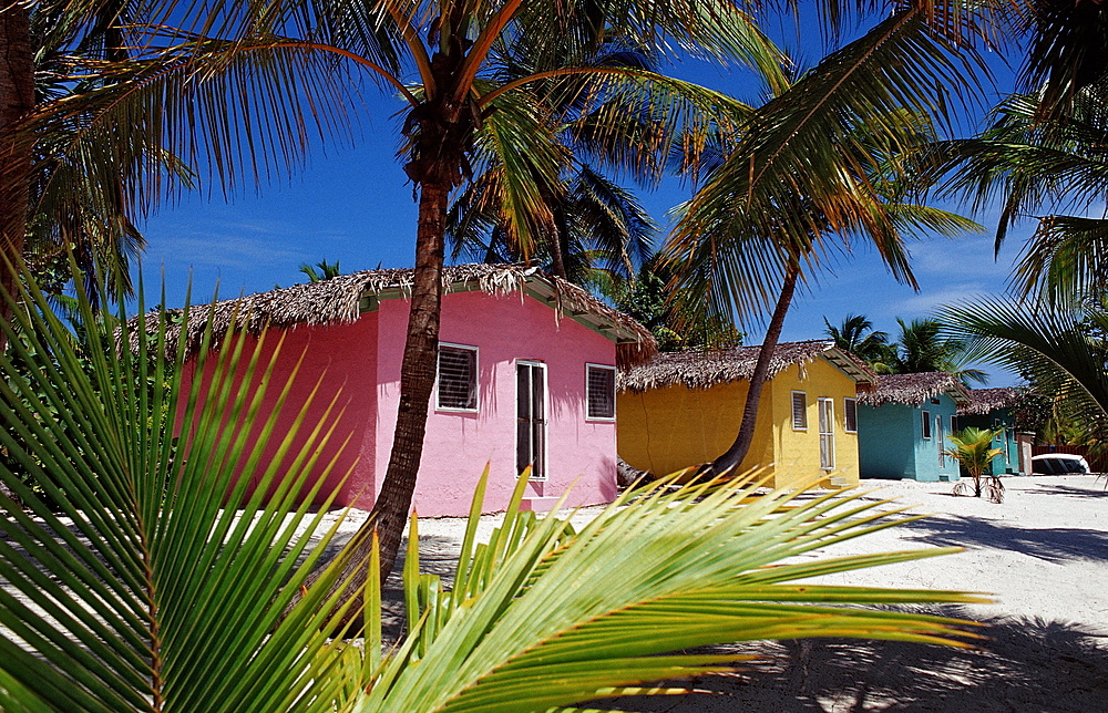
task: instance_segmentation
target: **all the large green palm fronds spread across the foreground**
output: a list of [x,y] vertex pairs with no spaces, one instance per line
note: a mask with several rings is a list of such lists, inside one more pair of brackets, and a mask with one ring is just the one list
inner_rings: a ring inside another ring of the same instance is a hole
[[[295,597],[321,551],[309,536],[322,517],[296,496],[328,424],[306,423],[301,409],[298,437],[266,450],[281,404],[268,409],[265,391],[281,402],[289,389],[253,342],[229,340],[197,372],[211,378],[183,381],[179,351],[162,356],[164,324],[150,337],[124,324],[122,343],[133,337],[141,358],[100,343],[85,369],[41,297],[23,299],[17,328],[34,349],[12,339],[0,371],[17,354],[42,368],[25,391],[0,388],[0,440],[63,513],[0,467],[30,508],[4,500],[0,518],[3,710],[543,711],[733,664],[668,654],[701,644],[972,637],[967,622],[844,606],[979,601],[970,595],[793,583],[950,551],[789,560],[893,524],[881,504],[755,497],[751,477],[657,484],[575,531],[520,513],[521,479],[486,545],[475,544],[478,493],[452,589],[419,575],[413,523],[410,633],[387,654],[372,548],[368,645],[347,645],[332,638],[347,604],[325,593],[337,566]],[[147,379],[172,388],[151,392]]]

